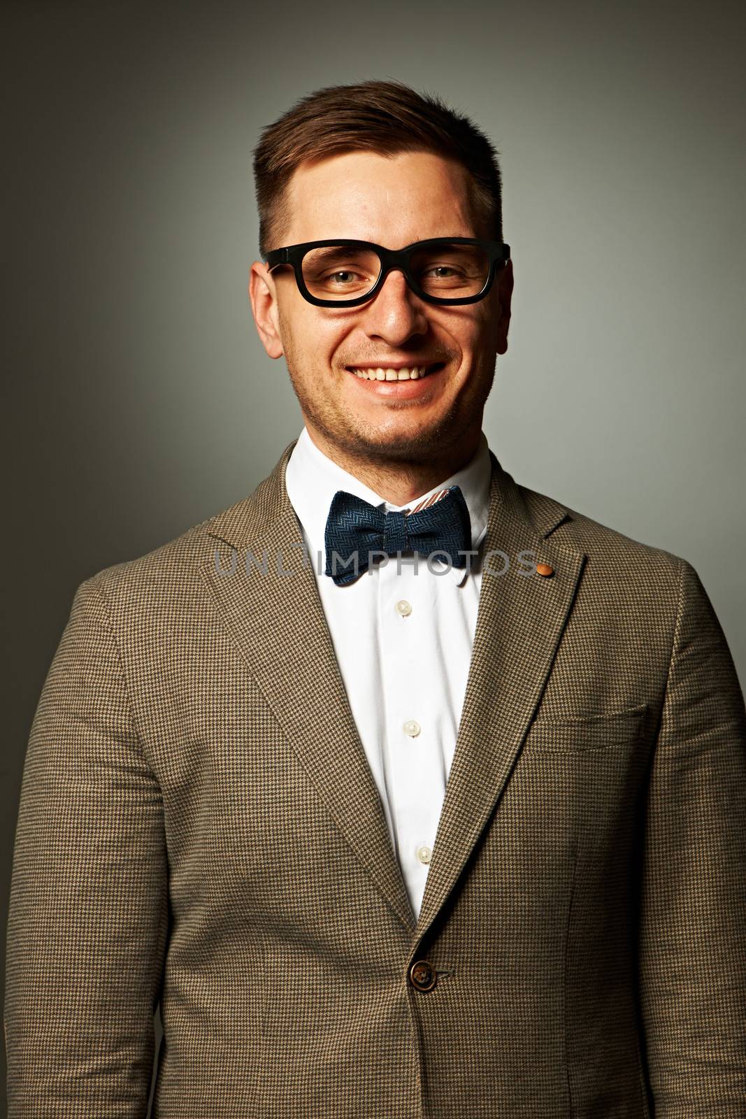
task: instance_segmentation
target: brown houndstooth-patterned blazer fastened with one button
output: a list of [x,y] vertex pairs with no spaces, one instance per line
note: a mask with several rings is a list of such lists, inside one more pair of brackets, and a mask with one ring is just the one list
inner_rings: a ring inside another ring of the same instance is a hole
[[11,1119],[144,1117],[159,999],[158,1119],[744,1119],[746,715],[696,571],[493,459],[484,549],[554,575],[484,574],[415,922],[292,446],[75,594],[20,800]]

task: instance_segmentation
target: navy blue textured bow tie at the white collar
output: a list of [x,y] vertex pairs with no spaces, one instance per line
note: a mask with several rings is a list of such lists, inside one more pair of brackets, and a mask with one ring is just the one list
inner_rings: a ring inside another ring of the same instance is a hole
[[375,553],[390,556],[398,552],[437,552],[438,560],[443,560],[441,553],[446,553],[454,567],[465,567],[465,552],[471,549],[469,508],[457,486],[413,513],[384,513],[355,493],[337,490],[327,517],[324,546],[324,574],[337,586],[353,582],[368,570],[369,553],[374,553],[372,562]]

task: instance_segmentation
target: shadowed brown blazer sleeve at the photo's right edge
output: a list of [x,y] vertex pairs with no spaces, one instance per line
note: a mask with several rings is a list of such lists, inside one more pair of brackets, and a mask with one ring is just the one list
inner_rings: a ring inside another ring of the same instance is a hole
[[746,1116],[746,714],[681,561],[643,847],[640,984],[655,1119]]

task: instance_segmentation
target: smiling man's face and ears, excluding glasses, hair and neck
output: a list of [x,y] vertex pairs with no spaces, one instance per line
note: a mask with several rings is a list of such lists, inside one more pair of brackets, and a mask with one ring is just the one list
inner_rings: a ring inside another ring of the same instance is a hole
[[[302,164],[289,186],[291,224],[275,246],[350,237],[403,248],[428,237],[490,237],[478,227],[468,172],[429,152],[386,158],[350,152]],[[284,355],[303,419],[317,441],[371,460],[424,461],[457,453],[481,431],[495,355],[508,348],[511,265],[488,297],[435,307],[389,272],[360,307],[315,307],[292,269],[252,269],[251,295],[271,357]],[[424,377],[370,380],[353,372],[391,364]]]

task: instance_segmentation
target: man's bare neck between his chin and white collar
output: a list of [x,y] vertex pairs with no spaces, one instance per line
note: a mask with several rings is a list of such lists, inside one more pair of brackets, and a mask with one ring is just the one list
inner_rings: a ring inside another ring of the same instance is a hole
[[440,482],[451,478],[462,470],[476,453],[482,429],[479,424],[474,430],[465,432],[459,443],[447,449],[447,453],[418,460],[393,460],[371,458],[368,453],[355,454],[339,444],[330,442],[315,427],[306,422],[306,430],[312,442],[328,459],[346,470],[363,486],[379,493],[389,505],[408,505],[422,493],[434,489]]

